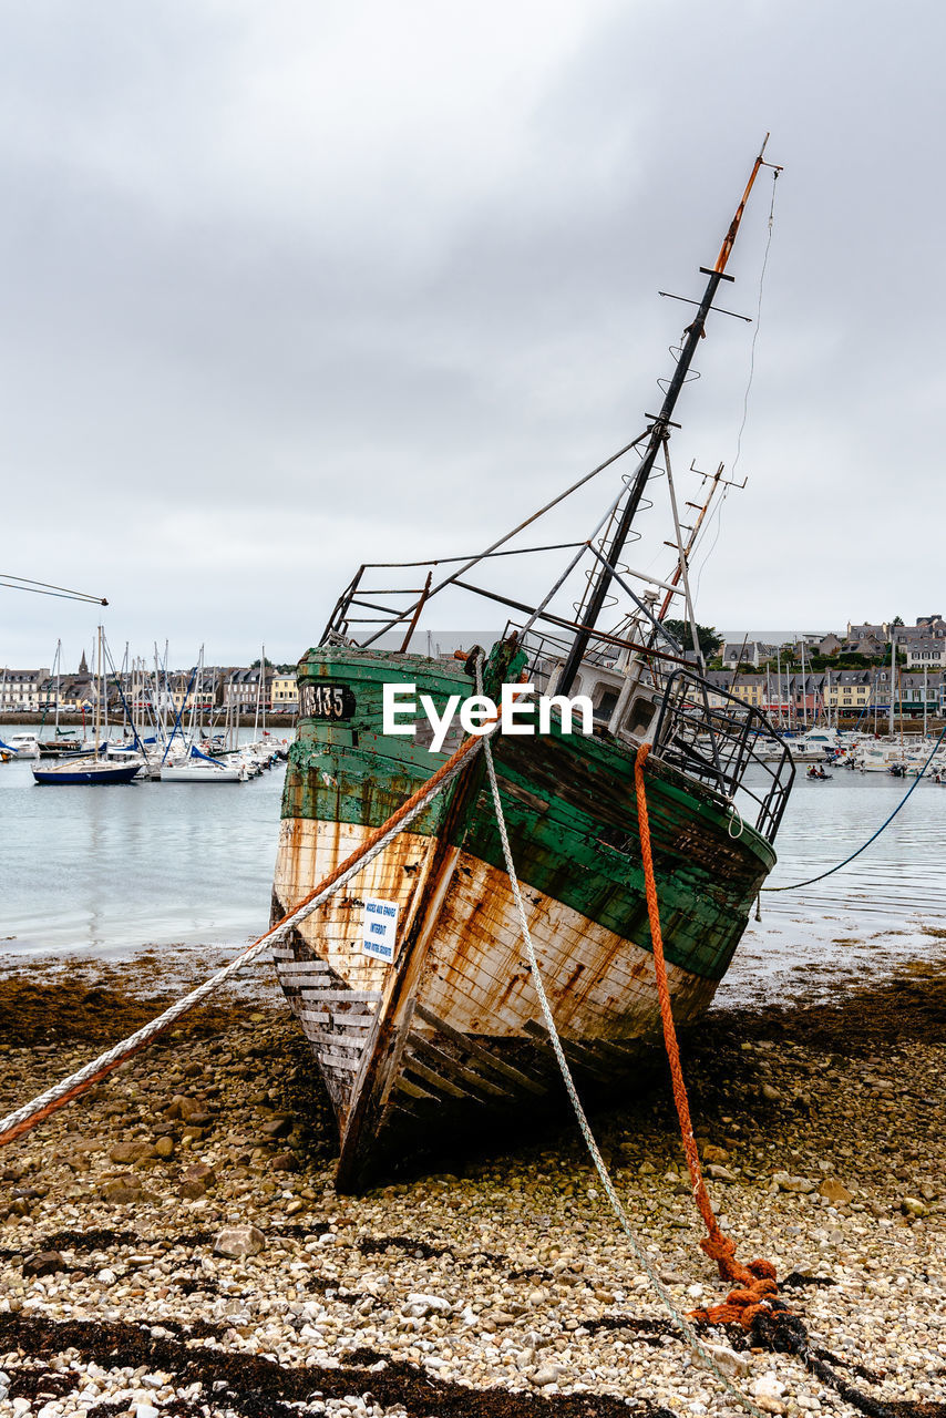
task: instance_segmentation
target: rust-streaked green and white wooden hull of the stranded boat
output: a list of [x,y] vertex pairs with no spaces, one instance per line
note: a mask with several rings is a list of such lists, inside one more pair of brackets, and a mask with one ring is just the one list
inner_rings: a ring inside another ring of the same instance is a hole
[[[346,725],[301,720],[274,916],[443,761],[380,735],[380,683],[469,692],[458,668],[357,649],[312,651],[306,676],[343,682],[356,709]],[[640,1071],[660,1031],[633,752],[555,726],[494,744],[556,1027],[580,1081],[613,1086]],[[750,828],[735,839],[725,805],[654,759],[648,803],[674,1012],[686,1025],[709,1005],[774,854]],[[362,951],[366,898],[399,909],[390,964]],[[340,1188],[562,1098],[482,764],[309,916],[277,970],[336,1110]]]

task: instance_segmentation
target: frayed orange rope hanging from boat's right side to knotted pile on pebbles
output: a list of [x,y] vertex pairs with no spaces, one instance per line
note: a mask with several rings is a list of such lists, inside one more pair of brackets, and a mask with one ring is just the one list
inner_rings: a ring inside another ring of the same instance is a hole
[[664,960],[664,937],[661,936],[660,903],[657,899],[657,881],[654,878],[654,858],[651,854],[651,828],[647,815],[647,790],[644,786],[644,763],[651,752],[650,743],[641,743],[634,760],[634,784],[637,788],[637,821],[641,835],[641,856],[644,859],[644,883],[647,888],[647,913],[651,923],[651,944],[654,949],[654,968],[657,971],[657,994],[660,997],[661,1020],[664,1024],[664,1044],[669,1061],[669,1072],[674,1086],[674,1103],[679,1117],[679,1130],[686,1153],[689,1180],[694,1187],[694,1200],[709,1232],[701,1248],[711,1261],[719,1266],[719,1275],[735,1288],[726,1296],[725,1305],[715,1305],[712,1309],[694,1310],[692,1317],[705,1320],[709,1324],[743,1324],[752,1326],[760,1310],[769,1310],[769,1299],[779,1293],[776,1285],[776,1268],[772,1261],[750,1261],[740,1265],[736,1261],[736,1242],[723,1234],[716,1221],[712,1201],[703,1183],[703,1171],[699,1164],[699,1151],[694,1137],[694,1124],[689,1119],[689,1099],[684,1071],[679,1064],[679,1046],[677,1044],[677,1028],[674,1027],[674,1011],[667,983],[667,961]]

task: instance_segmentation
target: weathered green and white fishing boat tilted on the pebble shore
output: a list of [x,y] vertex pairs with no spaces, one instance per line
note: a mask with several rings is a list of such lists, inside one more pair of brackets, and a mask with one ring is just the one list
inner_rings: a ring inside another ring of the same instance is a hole
[[[465,579],[475,564],[488,569],[492,557],[509,554],[506,543],[529,518],[486,552],[455,559],[458,569],[438,570],[437,584],[434,567],[443,560],[414,563],[403,604],[391,588],[393,569],[374,591],[366,584],[370,567],[360,567],[318,648],[299,662],[274,919],[445,761],[464,737],[455,719],[443,732],[450,706],[478,693],[479,679],[496,702],[503,686],[516,686],[506,692],[539,732],[521,727],[492,739],[502,817],[566,1055],[579,1085],[606,1095],[640,1085],[660,1038],[635,805],[640,746],[650,744],[644,783],[681,1027],[699,1020],[732,960],[774,865],[773,839],[794,777],[767,719],[712,686],[696,637],[689,651],[664,624],[677,597],[689,627],[696,624],[689,554],[725,482],[720,468],[685,536],[668,452],[671,428],[679,427],[672,414],[716,292],[732,279],[726,264],[746,200],[770,166],[763,155],[764,145],[716,264],[701,268],[706,288],[692,302],[696,313],[661,386],[660,414],[647,415],[644,432],[616,455],[633,451],[637,464],[593,535],[570,543],[576,556],[539,605]],[[675,564],[662,580],[621,562],[655,472],[665,479],[675,533]],[[569,577],[581,577],[589,562],[577,611],[557,613],[555,597],[567,594]],[[488,655],[478,647],[462,659],[410,652],[421,611],[447,587],[516,611]],[[618,590],[628,605],[606,631],[599,620]],[[399,648],[382,644],[393,631]],[[566,710],[570,695],[590,703],[583,732]],[[407,705],[397,725],[393,699]],[[413,1166],[471,1136],[515,1129],[563,1096],[484,774],[479,752],[342,893],[274,947],[279,981],[336,1112],[342,1191],[360,1191],[407,1160]]]

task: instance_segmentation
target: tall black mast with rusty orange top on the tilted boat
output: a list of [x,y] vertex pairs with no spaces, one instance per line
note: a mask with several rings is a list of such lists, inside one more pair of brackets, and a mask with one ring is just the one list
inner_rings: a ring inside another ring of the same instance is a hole
[[618,564],[621,552],[624,549],[624,543],[627,542],[631,525],[641,505],[644,489],[654,469],[654,464],[669,437],[671,415],[677,406],[677,398],[679,396],[679,391],[684,387],[684,383],[686,381],[689,366],[694,362],[694,354],[696,353],[696,346],[706,333],[705,329],[706,316],[712,309],[713,298],[716,295],[716,291],[719,289],[720,281],[733,279],[730,275],[726,275],[726,262],[729,261],[729,255],[736,241],[739,223],[742,221],[742,214],[746,208],[749,193],[752,191],[756,177],[759,176],[759,169],[763,166],[763,155],[767,142],[769,142],[769,135],[766,133],[759,156],[756,157],[752,167],[752,173],[749,174],[746,190],[742,194],[742,201],[736,207],[736,216],[732,218],[729,231],[726,233],[722,247],[719,248],[719,255],[716,257],[716,265],[712,269],[701,267],[702,274],[709,277],[709,279],[706,281],[706,289],[703,291],[703,298],[699,302],[699,308],[696,311],[692,325],[689,325],[684,332],[685,340],[681,349],[679,359],[677,362],[677,369],[674,370],[672,379],[667,387],[664,403],[661,404],[661,411],[651,424],[644,457],[637,465],[637,469],[634,472],[634,479],[630,485],[627,501],[624,503],[624,509],[618,518],[611,542],[607,546],[607,550],[604,552],[604,560],[607,564],[601,564],[601,569],[599,571],[597,580],[594,583],[594,590],[591,591],[587,608],[581,620],[581,630],[574,637],[569,655],[564,661],[564,665],[562,666],[562,674],[557,678],[556,693],[567,695],[574,682],[574,676],[577,674],[579,665],[581,664],[581,659],[584,658],[584,651],[587,649],[591,631],[597,624],[597,618],[601,614],[601,608],[607,598],[608,587],[611,586],[611,581],[614,579],[614,571],[611,569],[617,567]]

